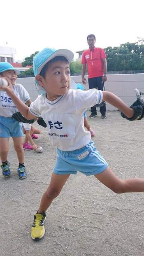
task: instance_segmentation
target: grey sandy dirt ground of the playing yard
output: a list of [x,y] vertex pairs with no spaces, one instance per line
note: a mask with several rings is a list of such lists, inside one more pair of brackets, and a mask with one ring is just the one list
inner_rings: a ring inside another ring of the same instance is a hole
[[[119,112],[107,112],[107,119],[99,115],[89,122],[98,150],[116,175],[144,178],[144,119],[129,122]],[[0,256],[144,256],[144,193],[115,194],[81,173],[68,179],[47,211],[44,238],[30,238],[56,160],[46,128],[41,130],[35,142],[43,153],[25,151],[25,180],[17,177],[10,140],[12,175],[4,178],[0,172]]]

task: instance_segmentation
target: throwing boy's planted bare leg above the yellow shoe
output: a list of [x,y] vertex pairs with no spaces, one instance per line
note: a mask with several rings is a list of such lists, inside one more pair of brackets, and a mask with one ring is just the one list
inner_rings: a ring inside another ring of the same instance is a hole
[[67,181],[70,174],[67,175],[57,175],[55,173],[51,176],[51,182],[48,189],[42,196],[42,200],[39,206],[38,213],[46,212],[47,208],[51,205],[51,202],[56,198],[60,191],[63,189],[65,182]]

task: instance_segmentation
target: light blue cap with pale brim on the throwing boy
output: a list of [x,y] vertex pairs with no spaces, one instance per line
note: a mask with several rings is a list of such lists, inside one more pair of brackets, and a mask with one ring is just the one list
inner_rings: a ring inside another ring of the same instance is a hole
[[47,62],[51,61],[56,56],[63,56],[67,59],[68,62],[71,62],[74,58],[74,54],[72,51],[67,49],[51,49],[51,48],[44,48],[42,51],[39,51],[38,54],[35,55],[33,58],[33,72],[36,76],[39,74],[46,65]]

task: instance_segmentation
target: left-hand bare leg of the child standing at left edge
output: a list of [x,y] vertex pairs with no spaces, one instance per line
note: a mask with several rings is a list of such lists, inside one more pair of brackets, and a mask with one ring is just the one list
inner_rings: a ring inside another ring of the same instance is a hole
[[0,138],[0,158],[2,162],[7,161],[9,152],[9,138]]

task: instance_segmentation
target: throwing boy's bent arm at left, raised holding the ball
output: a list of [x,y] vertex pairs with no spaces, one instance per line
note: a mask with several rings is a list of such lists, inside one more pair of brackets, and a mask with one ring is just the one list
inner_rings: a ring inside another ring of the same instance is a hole
[[7,81],[9,83],[9,86],[6,88],[7,95],[12,99],[19,112],[28,120],[35,118],[35,116],[29,112],[29,107],[26,106],[14,93],[11,81],[9,79],[7,79]]

